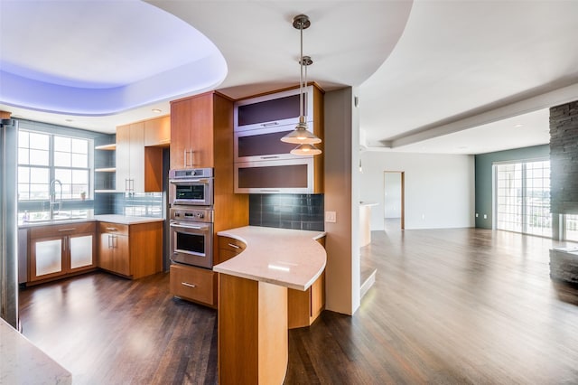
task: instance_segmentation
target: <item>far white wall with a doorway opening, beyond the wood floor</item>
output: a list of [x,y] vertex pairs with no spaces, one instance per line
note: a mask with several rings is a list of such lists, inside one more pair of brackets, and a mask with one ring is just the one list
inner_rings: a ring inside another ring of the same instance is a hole
[[384,230],[385,171],[406,173],[407,230],[474,227],[472,155],[364,152],[361,161],[361,201],[378,202],[371,211],[371,230]]

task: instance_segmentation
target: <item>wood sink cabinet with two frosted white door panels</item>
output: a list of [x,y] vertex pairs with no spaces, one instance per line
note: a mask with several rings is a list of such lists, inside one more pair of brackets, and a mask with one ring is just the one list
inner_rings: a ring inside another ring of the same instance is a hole
[[96,267],[95,222],[67,223],[28,231],[28,285]]

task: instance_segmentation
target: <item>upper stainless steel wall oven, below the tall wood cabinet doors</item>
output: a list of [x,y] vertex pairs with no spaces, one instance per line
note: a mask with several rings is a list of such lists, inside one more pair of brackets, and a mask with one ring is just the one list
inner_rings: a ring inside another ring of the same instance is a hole
[[213,169],[171,170],[169,172],[169,202],[172,205],[212,206]]

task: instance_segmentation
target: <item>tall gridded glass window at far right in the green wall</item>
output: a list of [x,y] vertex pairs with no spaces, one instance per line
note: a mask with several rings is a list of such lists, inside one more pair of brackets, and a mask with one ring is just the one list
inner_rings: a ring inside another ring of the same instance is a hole
[[494,167],[496,228],[551,237],[550,161]]

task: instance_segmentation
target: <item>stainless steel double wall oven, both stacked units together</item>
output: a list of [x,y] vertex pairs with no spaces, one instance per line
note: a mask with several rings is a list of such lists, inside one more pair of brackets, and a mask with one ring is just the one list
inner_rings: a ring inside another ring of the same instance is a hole
[[172,263],[213,267],[213,169],[169,172]]

